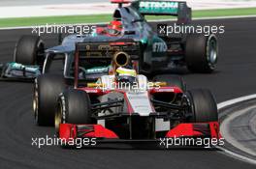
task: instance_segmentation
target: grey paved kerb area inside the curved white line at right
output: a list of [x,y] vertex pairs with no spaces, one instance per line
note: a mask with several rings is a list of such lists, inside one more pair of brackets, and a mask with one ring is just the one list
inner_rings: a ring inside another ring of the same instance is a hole
[[225,148],[256,159],[256,99],[241,101],[221,109],[221,133]]

